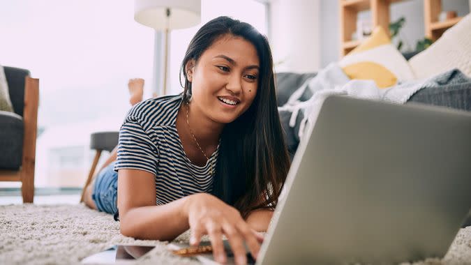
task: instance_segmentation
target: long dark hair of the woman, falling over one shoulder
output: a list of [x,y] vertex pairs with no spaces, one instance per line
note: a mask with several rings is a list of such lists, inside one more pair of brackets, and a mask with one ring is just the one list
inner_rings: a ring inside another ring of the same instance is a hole
[[186,78],[186,64],[192,59],[197,63],[208,47],[227,35],[244,38],[255,46],[260,73],[251,107],[227,123],[221,134],[213,194],[246,218],[255,209],[274,209],[290,168],[276,106],[273,59],[267,37],[250,24],[217,17],[204,24],[191,40],[180,75],[185,80],[183,100],[188,101],[191,83]]

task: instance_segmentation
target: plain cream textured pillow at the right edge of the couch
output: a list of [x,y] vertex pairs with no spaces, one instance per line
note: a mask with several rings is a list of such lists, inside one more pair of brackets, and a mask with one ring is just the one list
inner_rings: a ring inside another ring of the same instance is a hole
[[417,79],[458,68],[471,77],[471,14],[445,31],[441,38],[409,60]]

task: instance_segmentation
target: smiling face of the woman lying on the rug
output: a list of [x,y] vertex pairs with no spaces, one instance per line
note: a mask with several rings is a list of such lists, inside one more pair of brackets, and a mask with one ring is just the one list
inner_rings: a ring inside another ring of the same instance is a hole
[[260,62],[257,50],[232,35],[216,40],[197,61],[187,64],[192,101],[212,121],[230,123],[251,106],[257,95]]

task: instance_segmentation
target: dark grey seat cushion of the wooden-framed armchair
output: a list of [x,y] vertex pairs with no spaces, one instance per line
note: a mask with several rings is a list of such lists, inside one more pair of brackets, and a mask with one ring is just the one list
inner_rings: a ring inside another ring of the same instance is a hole
[[0,111],[0,169],[20,169],[23,153],[23,119]]

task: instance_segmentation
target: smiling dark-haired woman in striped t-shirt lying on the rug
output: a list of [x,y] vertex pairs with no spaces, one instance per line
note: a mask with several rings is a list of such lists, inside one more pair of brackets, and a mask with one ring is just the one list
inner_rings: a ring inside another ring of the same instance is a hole
[[[100,211],[118,208],[125,236],[166,241],[190,228],[197,245],[208,234],[222,263],[225,234],[244,264],[244,241],[256,258],[256,231],[267,230],[290,167],[267,38],[218,17],[191,40],[181,73],[183,94],[130,109],[117,173],[103,170],[87,201]],[[107,199],[116,187],[117,206]]]

